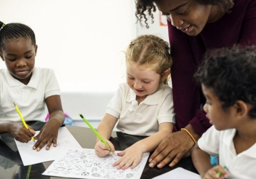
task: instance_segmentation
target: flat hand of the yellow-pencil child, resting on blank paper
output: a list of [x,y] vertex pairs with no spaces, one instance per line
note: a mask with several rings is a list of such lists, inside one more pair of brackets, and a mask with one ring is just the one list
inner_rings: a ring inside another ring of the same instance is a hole
[[51,144],[57,146],[59,122],[57,120],[49,120],[40,130],[38,135],[34,137],[37,142],[33,146],[33,149],[39,151],[46,144],[46,150],[50,149]]

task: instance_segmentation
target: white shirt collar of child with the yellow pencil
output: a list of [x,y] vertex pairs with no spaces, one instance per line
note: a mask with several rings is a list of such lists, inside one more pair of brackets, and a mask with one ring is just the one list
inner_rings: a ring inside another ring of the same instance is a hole
[[[8,71],[8,69],[5,69],[5,76],[7,79],[8,84],[11,87],[15,87],[15,86],[22,86],[25,85],[22,82],[20,82],[19,80],[15,79]],[[32,77],[29,81],[29,83],[27,84],[27,86],[32,87],[32,88],[37,88],[38,86],[38,82],[39,82],[39,74],[36,68],[33,69],[32,71]]]

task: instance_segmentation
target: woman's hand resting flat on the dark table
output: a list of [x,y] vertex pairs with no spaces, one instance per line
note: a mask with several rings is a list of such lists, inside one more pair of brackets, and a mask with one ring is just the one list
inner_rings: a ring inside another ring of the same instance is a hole
[[170,133],[150,156],[150,167],[157,165],[158,168],[162,168],[169,162],[170,167],[175,166],[194,144],[194,141],[183,130]]

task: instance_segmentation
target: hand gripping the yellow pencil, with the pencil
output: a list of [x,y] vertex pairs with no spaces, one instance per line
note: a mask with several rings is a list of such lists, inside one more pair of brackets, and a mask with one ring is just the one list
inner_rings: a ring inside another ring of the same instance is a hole
[[35,143],[35,139],[33,138],[33,136],[35,135],[35,131],[26,124],[22,114],[20,113],[18,106],[13,102],[14,107],[20,117],[20,119],[22,120],[22,123],[24,125],[24,127],[26,128],[26,130],[23,130],[22,127],[14,127],[15,132],[12,133],[12,135],[14,136],[14,138],[19,141],[19,142],[28,142],[30,141],[30,139],[32,139]]

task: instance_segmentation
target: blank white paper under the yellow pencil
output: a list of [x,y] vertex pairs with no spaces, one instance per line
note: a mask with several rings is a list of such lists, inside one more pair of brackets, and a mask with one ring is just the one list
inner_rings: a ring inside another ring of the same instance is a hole
[[[36,134],[39,131],[36,131]],[[15,139],[14,139],[15,140]],[[36,140],[35,140],[36,141]],[[57,147],[51,145],[49,150],[46,150],[46,146],[41,148],[40,151],[33,150],[32,147],[35,144],[34,141],[29,141],[28,143],[21,143],[15,140],[18,148],[20,157],[24,166],[37,164],[41,162],[53,161],[63,153],[67,151],[67,148],[82,148],[80,144],[75,140],[67,127],[60,127],[58,131]]]

